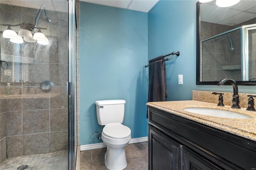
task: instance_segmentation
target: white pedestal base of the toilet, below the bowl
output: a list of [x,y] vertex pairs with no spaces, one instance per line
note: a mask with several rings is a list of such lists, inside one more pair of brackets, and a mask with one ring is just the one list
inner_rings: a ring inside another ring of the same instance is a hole
[[127,160],[124,147],[107,147],[107,152],[105,154],[105,166],[109,170],[123,170],[124,168],[126,168]]

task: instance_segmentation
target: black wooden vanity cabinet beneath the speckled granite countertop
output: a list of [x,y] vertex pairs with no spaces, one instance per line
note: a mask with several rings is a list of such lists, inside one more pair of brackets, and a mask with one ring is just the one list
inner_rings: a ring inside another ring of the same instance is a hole
[[252,170],[256,142],[148,106],[150,170]]

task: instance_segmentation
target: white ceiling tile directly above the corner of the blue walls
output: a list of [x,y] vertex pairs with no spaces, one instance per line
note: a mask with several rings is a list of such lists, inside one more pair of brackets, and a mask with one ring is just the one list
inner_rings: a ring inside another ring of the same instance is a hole
[[149,12],[159,0],[133,0],[129,10]]

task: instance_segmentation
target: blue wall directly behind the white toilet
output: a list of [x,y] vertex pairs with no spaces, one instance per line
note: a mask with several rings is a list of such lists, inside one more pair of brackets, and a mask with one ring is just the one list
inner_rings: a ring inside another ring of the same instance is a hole
[[80,2],[80,143],[102,142],[95,101],[126,100],[132,138],[148,135],[148,14]]

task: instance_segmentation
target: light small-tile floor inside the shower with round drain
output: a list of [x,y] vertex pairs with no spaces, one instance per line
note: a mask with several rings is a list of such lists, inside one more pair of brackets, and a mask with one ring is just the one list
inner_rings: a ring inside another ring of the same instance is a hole
[[68,170],[68,150],[7,158],[0,170],[17,170],[23,164],[26,170]]

